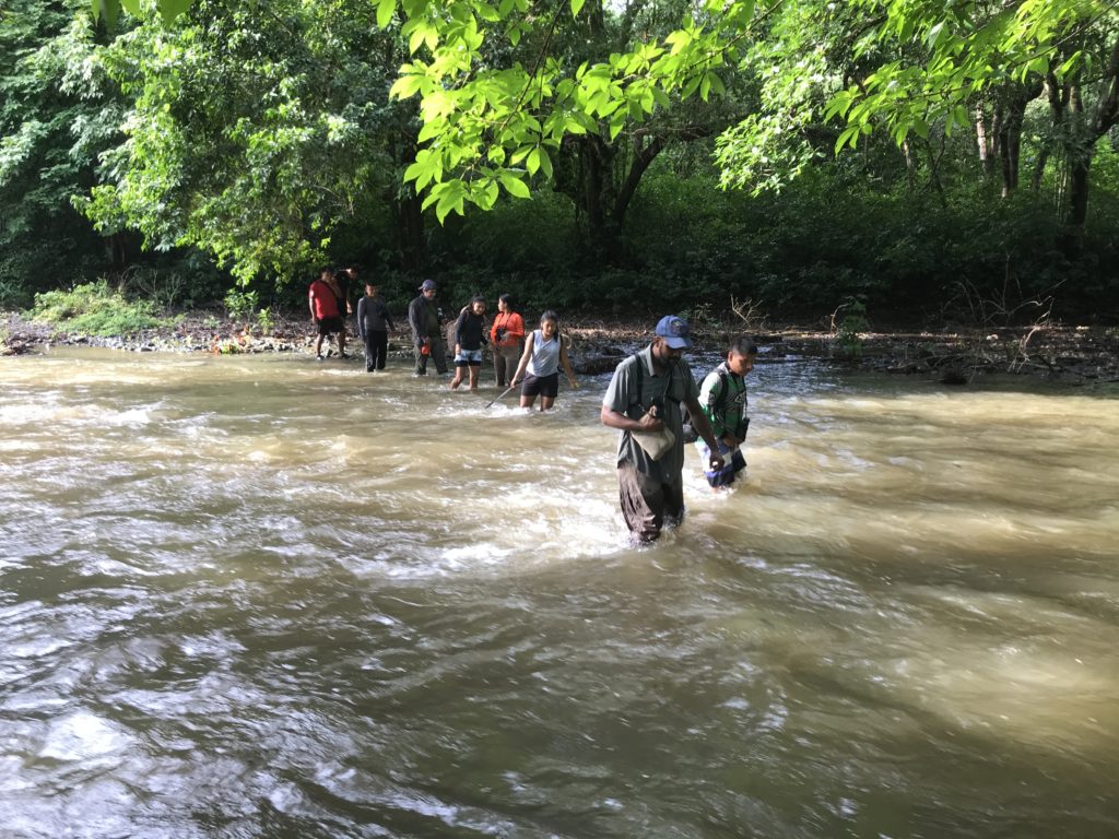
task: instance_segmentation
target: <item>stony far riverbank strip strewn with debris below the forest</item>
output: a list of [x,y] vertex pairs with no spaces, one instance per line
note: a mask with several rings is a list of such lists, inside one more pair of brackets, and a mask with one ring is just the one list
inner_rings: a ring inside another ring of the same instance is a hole
[[[572,317],[563,324],[574,339],[573,364],[580,374],[613,369],[619,359],[648,338],[643,321]],[[986,330],[924,330],[899,328],[841,333],[812,324],[783,324],[740,330],[714,322],[694,324],[697,349],[721,351],[745,331],[753,334],[768,359],[809,357],[856,369],[913,375],[946,384],[967,384],[978,376],[1017,374],[1070,383],[1119,381],[1119,328],[1045,324]],[[310,355],[314,336],[305,319],[276,315],[264,332],[257,324],[188,312],[172,326],[129,336],[94,337],[72,333],[23,319],[17,312],[0,315],[0,355],[41,351],[51,345],[88,346],[132,352],[210,352],[238,355],[300,352]],[[360,343],[348,347],[359,359]],[[410,359],[406,332],[391,336],[389,355]]]

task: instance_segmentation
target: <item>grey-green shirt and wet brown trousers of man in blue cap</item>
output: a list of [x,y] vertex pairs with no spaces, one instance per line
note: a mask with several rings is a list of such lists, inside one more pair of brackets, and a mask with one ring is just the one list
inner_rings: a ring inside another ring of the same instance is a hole
[[653,541],[665,525],[678,524],[684,518],[680,403],[697,397],[687,361],[676,359],[667,370],[658,373],[651,346],[618,365],[602,397],[605,408],[630,420],[640,420],[656,403],[661,421],[676,435],[673,447],[653,460],[628,431],[618,433],[618,493],[633,544]]

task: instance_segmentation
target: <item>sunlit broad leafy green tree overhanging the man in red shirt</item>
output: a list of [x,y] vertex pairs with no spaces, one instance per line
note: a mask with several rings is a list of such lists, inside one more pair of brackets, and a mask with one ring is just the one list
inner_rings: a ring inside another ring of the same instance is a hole
[[201,0],[170,27],[145,20],[103,55],[133,105],[87,213],[150,247],[208,251],[243,281],[307,271],[337,236],[372,247],[386,199],[407,205],[417,128],[387,98],[396,43],[360,0]]

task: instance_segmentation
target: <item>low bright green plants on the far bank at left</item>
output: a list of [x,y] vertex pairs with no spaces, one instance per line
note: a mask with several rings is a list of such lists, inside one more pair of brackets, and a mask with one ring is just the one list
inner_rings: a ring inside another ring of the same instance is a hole
[[109,283],[77,285],[70,291],[47,291],[35,295],[27,312],[30,320],[49,323],[72,334],[100,337],[129,336],[144,329],[170,326],[150,300],[128,300]]

